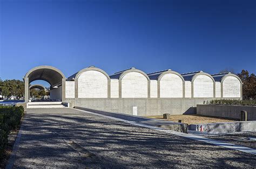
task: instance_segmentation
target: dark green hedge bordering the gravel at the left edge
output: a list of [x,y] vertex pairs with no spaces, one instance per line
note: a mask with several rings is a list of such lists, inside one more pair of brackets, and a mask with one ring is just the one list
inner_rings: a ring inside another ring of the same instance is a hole
[[19,124],[21,124],[23,115],[23,106],[0,106],[0,159],[2,159],[8,144],[8,134],[11,130],[17,129]]

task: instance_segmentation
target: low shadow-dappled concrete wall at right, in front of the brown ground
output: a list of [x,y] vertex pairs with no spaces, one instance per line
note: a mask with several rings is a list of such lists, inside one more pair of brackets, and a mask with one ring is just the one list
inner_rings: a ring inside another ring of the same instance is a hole
[[218,134],[244,131],[256,131],[256,121],[237,121],[227,123],[191,124],[189,130]]

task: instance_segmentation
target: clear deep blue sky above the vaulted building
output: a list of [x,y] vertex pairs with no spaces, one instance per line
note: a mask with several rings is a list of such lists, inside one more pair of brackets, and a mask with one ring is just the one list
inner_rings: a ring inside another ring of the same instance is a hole
[[256,72],[256,1],[0,0],[0,77],[51,65],[66,77],[223,69]]

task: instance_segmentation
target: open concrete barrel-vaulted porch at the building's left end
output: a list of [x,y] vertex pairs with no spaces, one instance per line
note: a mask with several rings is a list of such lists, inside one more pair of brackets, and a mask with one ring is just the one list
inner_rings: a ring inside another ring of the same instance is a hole
[[[44,80],[50,84],[50,100],[61,101],[63,94],[63,82],[65,76],[56,67],[38,66],[34,67],[24,77],[25,81],[25,102],[29,102],[29,84],[35,80]],[[38,86],[37,86],[38,87]]]

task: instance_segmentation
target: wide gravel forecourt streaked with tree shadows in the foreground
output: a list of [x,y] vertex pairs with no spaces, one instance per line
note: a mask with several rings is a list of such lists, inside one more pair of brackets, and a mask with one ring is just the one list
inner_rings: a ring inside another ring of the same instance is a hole
[[256,167],[256,156],[73,109],[30,109],[15,168]]

